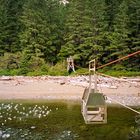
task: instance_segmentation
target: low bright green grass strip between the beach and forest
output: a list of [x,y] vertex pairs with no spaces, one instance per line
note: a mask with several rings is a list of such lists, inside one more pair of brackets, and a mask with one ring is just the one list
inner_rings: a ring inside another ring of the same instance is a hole
[[[140,71],[127,71],[127,70],[110,70],[110,69],[102,69],[98,70],[103,74],[107,74],[114,77],[136,77],[140,76]],[[88,68],[81,68],[77,69],[76,72],[72,72],[70,75],[77,76],[77,75],[88,75],[89,70]],[[16,75],[25,75],[25,76],[42,76],[42,75],[51,75],[51,76],[67,76],[68,72],[65,68],[61,65],[56,65],[48,68],[48,70],[34,70],[34,71],[25,71],[22,69],[3,69],[0,70],[0,76],[16,76]]]

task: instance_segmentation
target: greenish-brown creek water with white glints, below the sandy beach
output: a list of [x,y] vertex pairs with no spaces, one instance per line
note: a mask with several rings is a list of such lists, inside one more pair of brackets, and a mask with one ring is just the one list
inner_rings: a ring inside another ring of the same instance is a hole
[[127,140],[135,113],[108,107],[106,125],[86,125],[80,105],[0,102],[0,140]]

